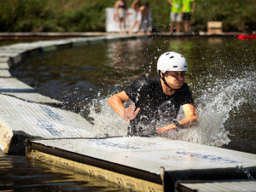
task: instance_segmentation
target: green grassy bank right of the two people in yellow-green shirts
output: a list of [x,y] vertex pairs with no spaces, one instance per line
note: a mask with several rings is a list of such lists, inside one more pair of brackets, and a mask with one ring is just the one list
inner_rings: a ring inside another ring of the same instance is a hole
[[198,29],[207,26],[208,20],[221,20],[224,31],[255,30],[256,3],[253,0],[197,0],[192,23]]

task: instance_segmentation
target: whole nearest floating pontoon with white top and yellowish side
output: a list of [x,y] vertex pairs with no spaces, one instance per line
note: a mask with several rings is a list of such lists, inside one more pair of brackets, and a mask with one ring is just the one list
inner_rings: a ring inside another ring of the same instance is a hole
[[[163,137],[28,141],[26,155],[137,191],[174,191],[178,181],[250,179],[256,154]],[[247,172],[246,172],[247,171]]]

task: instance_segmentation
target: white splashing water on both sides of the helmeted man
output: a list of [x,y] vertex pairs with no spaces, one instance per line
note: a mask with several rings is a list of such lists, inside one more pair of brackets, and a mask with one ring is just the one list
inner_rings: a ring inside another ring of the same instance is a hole
[[[230,143],[230,132],[224,129],[224,123],[230,118],[230,112],[238,110],[242,103],[255,103],[255,73],[244,72],[243,79],[215,79],[213,84],[207,84],[203,94],[195,99],[200,120],[196,125],[180,131],[168,131],[160,134],[173,140],[191,143],[201,143],[211,146],[222,146]],[[196,86],[199,88],[197,89]],[[200,90],[197,84],[194,90]],[[252,90],[252,91],[248,91]],[[195,92],[194,91],[194,92]],[[249,94],[249,95],[248,95]],[[101,106],[100,110],[96,106]],[[183,119],[181,110],[178,119]],[[94,119],[94,127],[98,136],[125,136],[128,122],[121,119],[108,106],[107,99],[94,100],[90,108],[90,118]]]

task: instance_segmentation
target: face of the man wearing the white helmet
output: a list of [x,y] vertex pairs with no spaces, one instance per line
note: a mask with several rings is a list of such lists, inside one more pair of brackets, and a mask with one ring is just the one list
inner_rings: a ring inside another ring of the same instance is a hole
[[173,89],[180,89],[185,81],[185,72],[166,72],[165,78],[167,84],[169,84]]

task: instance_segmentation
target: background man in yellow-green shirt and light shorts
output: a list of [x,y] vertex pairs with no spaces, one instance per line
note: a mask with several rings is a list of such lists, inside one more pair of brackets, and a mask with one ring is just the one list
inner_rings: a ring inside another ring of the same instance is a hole
[[167,0],[169,4],[171,4],[171,15],[170,15],[170,32],[173,32],[174,23],[177,23],[176,32],[180,31],[180,23],[182,21],[182,0]]

